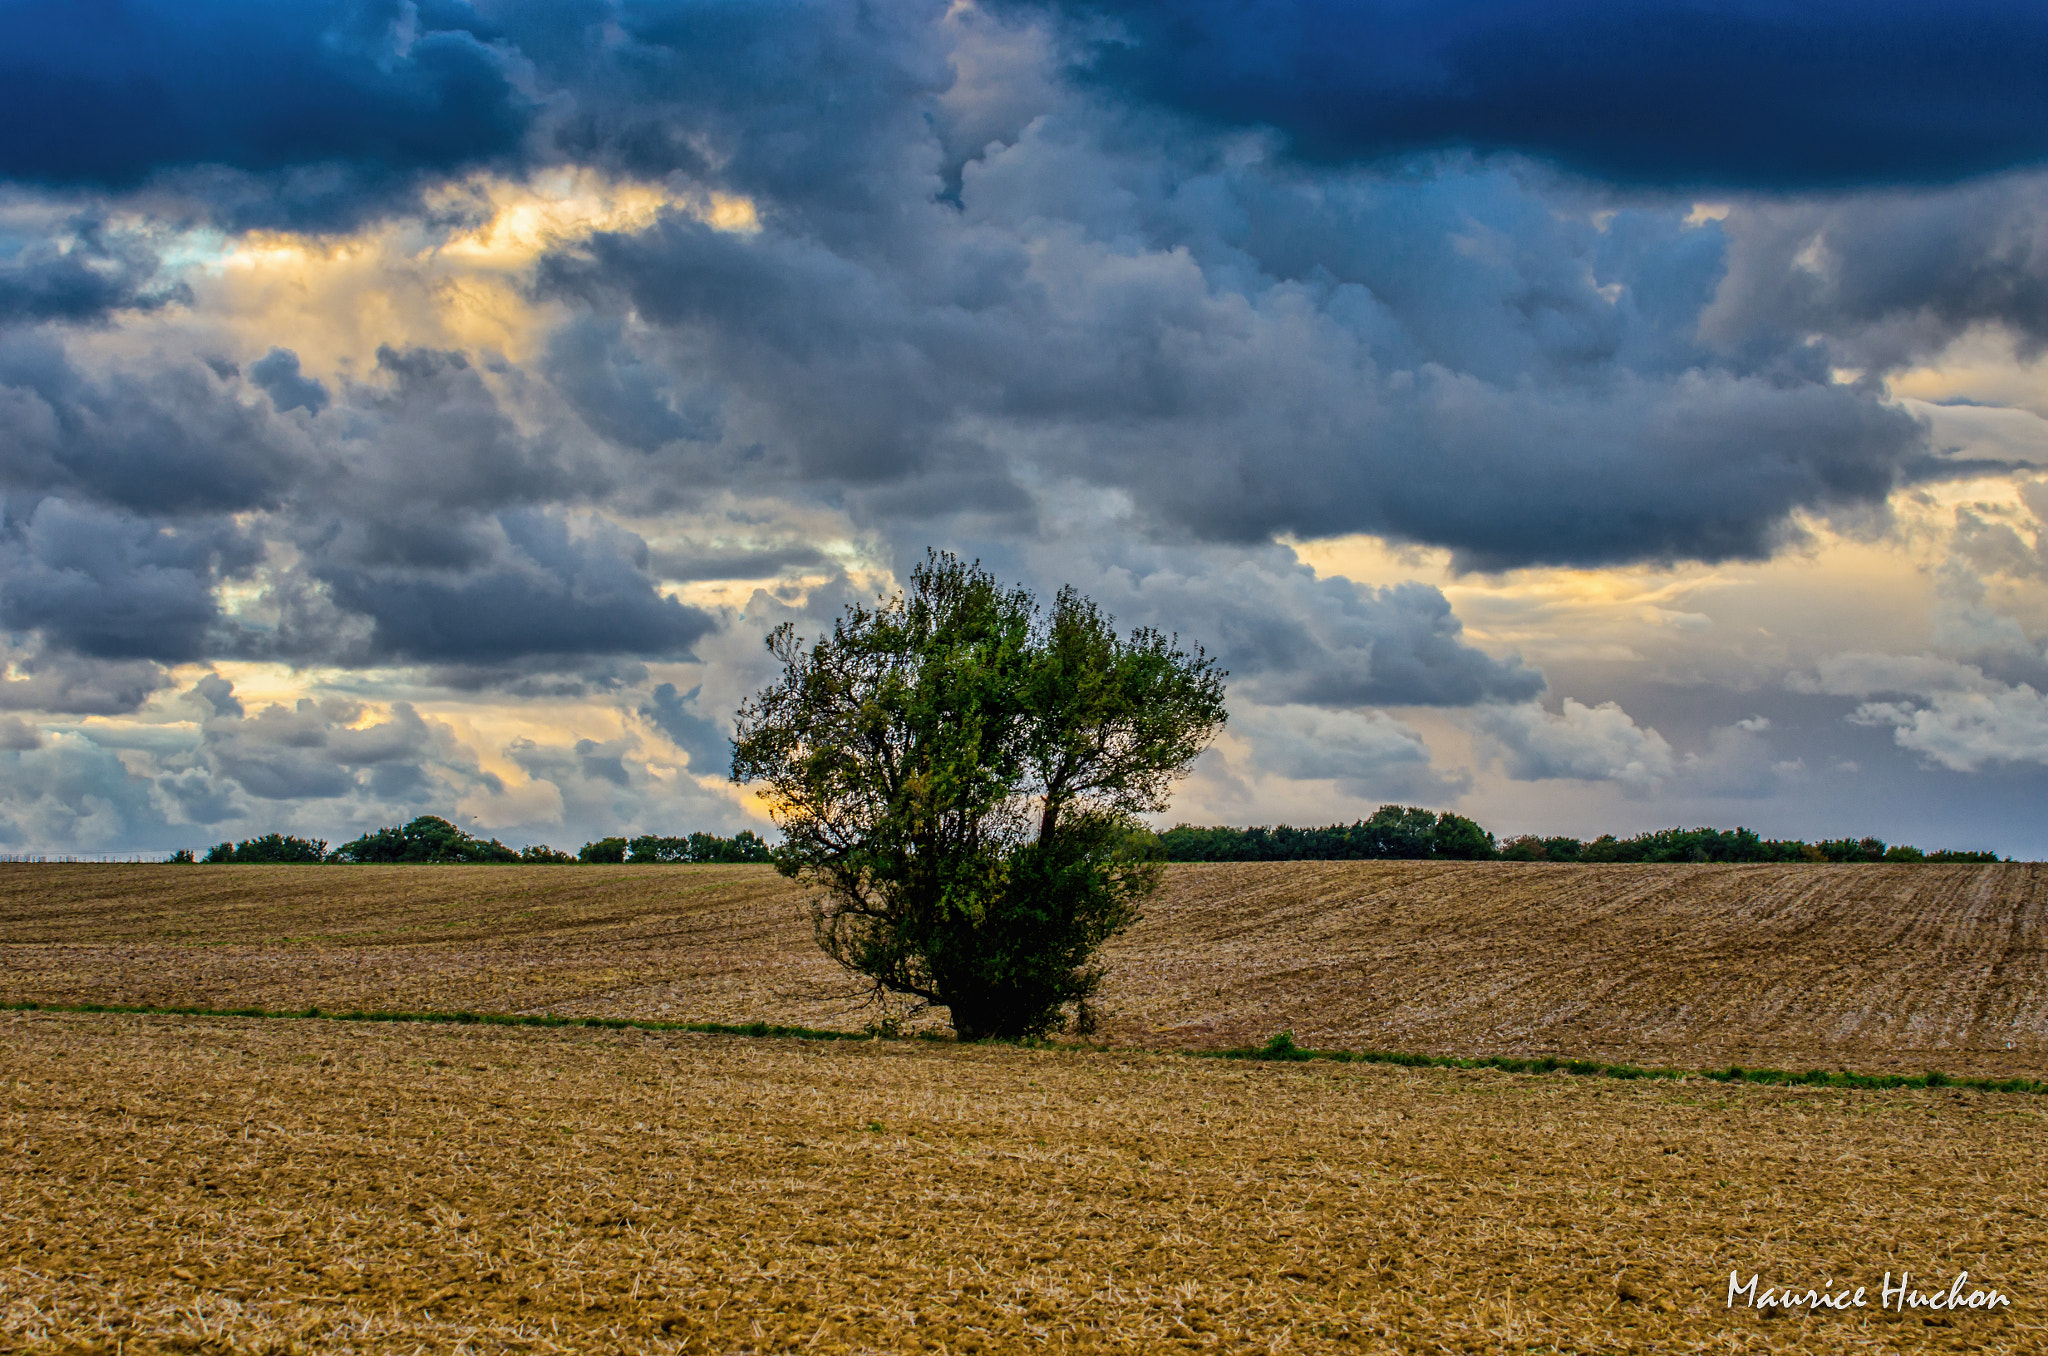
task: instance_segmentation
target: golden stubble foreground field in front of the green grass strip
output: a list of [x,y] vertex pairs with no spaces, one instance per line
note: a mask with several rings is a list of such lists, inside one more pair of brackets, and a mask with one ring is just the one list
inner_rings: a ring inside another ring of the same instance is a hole
[[0,1090],[0,1350],[2048,1350],[2034,1096],[47,1012]]

